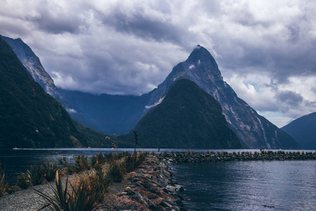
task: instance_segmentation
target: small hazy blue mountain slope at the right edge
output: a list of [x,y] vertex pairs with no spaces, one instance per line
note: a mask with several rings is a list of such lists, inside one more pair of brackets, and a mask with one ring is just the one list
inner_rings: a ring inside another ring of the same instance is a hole
[[302,149],[316,150],[316,113],[299,117],[281,129],[291,135]]

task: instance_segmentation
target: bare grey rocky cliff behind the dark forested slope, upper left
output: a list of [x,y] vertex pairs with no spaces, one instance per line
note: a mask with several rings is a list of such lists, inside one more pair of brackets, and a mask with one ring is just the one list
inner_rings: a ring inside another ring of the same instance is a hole
[[9,37],[2,38],[11,46],[15,55],[18,56],[20,62],[25,66],[29,74],[32,75],[35,82],[39,83],[47,94],[50,94],[53,98],[62,102],[62,96],[60,96],[56,90],[53,79],[45,71],[44,67],[41,65],[41,61],[32,49],[29,48],[22,39],[11,39]]

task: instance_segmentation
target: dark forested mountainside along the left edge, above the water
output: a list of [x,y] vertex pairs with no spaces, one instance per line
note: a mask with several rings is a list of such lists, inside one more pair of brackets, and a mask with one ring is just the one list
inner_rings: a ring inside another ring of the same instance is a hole
[[100,146],[105,142],[104,134],[74,122],[34,82],[1,36],[0,75],[0,148]]

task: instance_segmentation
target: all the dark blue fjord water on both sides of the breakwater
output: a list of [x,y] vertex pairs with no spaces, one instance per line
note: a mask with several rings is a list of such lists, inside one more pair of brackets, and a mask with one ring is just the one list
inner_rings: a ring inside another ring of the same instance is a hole
[[[131,148],[119,151],[133,152]],[[141,149],[154,151],[156,149]],[[188,149],[161,149],[161,153]],[[211,150],[190,150],[206,153]],[[225,150],[232,153],[235,150]],[[250,150],[237,150],[250,151]],[[253,153],[256,150],[251,150]],[[75,155],[113,153],[111,148],[51,148],[0,150],[6,179],[15,183],[27,165],[62,156],[74,162]],[[232,161],[169,164],[189,210],[315,210],[316,161]]]

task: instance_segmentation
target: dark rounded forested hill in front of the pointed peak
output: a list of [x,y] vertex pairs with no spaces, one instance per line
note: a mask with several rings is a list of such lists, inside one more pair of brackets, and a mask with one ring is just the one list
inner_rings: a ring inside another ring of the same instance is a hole
[[242,148],[218,102],[188,79],[176,81],[135,131],[140,147]]

